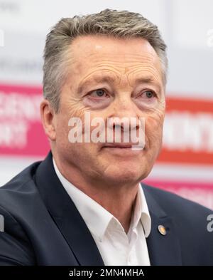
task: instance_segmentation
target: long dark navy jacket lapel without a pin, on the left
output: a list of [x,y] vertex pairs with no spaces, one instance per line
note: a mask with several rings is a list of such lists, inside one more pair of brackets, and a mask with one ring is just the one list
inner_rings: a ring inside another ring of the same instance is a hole
[[77,262],[84,266],[104,265],[92,234],[55,173],[51,152],[40,163],[35,182],[50,215]]

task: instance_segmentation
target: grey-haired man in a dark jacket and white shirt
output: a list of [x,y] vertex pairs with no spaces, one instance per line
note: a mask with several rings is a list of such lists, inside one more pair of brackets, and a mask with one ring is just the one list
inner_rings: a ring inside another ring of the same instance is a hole
[[[140,185],[162,142],[165,48],[158,28],[129,11],[106,9],[53,27],[40,105],[51,152],[0,189],[1,265],[213,264],[212,211]],[[92,141],[95,118],[105,125],[97,138],[116,118],[111,142]],[[134,131],[140,145],[116,141],[118,128],[122,139]]]

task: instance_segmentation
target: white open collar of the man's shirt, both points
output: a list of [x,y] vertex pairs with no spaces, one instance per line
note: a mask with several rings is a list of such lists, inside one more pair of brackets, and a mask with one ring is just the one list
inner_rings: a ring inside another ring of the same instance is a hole
[[[54,159],[53,166],[60,182],[62,183],[62,186],[72,199],[72,202],[74,202],[78,212],[80,212],[80,215],[84,219],[85,224],[87,224],[89,231],[92,232],[92,234],[94,234],[99,240],[102,240],[109,223],[119,223],[119,221],[110,212],[104,209],[104,207],[95,202],[94,199],[72,185],[72,183],[70,183],[60,173]],[[148,237],[151,232],[151,217],[148,212],[146,197],[143,193],[141,185],[138,187],[138,194],[136,196],[136,204],[134,207],[133,219],[131,220],[131,227],[135,228],[140,219],[143,225],[145,237]]]

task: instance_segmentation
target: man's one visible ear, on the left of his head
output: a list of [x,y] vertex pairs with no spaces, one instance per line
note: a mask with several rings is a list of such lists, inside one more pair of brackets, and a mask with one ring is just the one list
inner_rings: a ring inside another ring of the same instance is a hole
[[43,123],[45,134],[50,140],[55,141],[55,111],[50,105],[50,102],[46,99],[43,99],[40,103],[40,118]]

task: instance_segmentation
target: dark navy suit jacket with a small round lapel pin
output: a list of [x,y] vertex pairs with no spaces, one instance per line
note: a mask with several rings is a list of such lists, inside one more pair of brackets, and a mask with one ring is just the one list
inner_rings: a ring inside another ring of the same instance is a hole
[[[151,265],[213,265],[212,210],[143,185],[151,214]],[[62,187],[52,154],[0,188],[1,265],[104,265],[84,220]],[[167,234],[158,232],[162,224]]]

